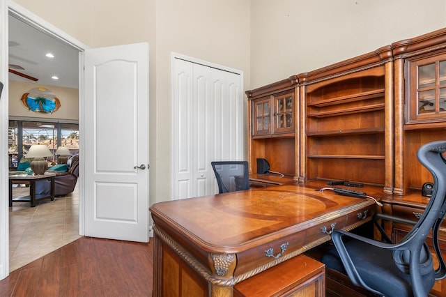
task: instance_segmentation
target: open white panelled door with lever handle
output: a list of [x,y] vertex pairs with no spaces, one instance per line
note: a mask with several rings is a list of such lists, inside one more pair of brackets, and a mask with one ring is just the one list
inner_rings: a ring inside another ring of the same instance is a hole
[[84,59],[85,235],[147,242],[148,44]]

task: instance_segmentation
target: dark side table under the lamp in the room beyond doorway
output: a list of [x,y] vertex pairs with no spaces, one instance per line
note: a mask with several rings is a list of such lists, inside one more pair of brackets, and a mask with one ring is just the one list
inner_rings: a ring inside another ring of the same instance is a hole
[[[51,199],[54,201],[54,176],[56,174],[46,173],[43,175],[10,174],[9,176],[9,207],[13,202],[30,202],[31,207],[36,206],[36,201],[40,199]],[[47,179],[51,181],[51,192],[49,195],[36,195],[36,181]],[[13,199],[13,184],[29,183],[29,195]]]

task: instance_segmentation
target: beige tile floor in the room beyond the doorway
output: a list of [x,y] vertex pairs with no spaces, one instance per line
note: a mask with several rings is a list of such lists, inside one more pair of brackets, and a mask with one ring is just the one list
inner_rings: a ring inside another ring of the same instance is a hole
[[[9,271],[29,264],[79,236],[79,191],[54,201],[13,202],[9,208]],[[29,195],[29,188],[13,188],[13,197]]]

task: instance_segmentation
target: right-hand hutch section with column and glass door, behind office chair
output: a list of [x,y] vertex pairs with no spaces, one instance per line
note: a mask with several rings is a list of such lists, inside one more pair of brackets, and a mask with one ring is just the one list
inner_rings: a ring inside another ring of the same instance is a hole
[[406,195],[431,181],[431,174],[417,161],[418,148],[446,139],[446,29],[392,43],[392,52],[394,194]]

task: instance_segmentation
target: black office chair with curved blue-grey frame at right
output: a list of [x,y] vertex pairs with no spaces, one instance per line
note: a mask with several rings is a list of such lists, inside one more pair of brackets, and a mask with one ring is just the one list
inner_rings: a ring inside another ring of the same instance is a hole
[[[438,230],[446,211],[445,151],[446,141],[431,142],[418,150],[418,160],[433,176],[432,197],[420,220],[413,222],[413,229],[399,243],[389,243],[388,237],[387,243],[383,243],[346,231],[333,231],[335,248],[323,255],[325,267],[348,275],[353,284],[376,294],[427,296],[435,280],[446,276],[445,261],[438,245]],[[410,222],[390,215],[378,215],[377,218]],[[436,270],[425,243],[429,231],[432,231],[433,248],[439,263]]]

